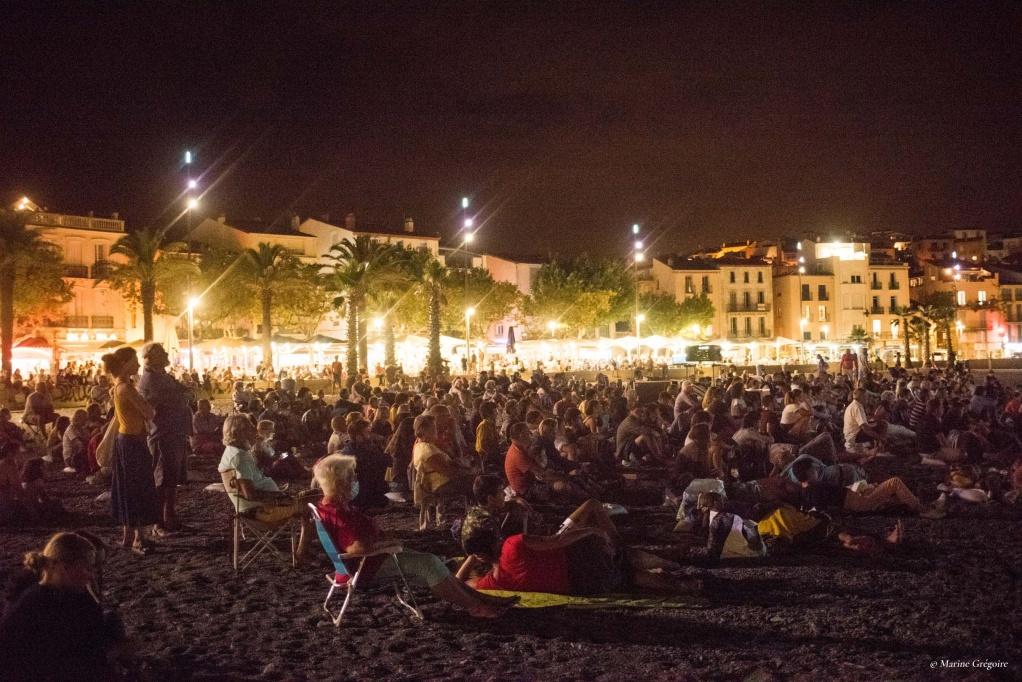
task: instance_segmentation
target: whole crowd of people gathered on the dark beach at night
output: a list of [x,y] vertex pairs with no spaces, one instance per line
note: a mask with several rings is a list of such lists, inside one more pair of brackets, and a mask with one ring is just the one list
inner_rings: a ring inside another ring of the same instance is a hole
[[[368,372],[343,376],[338,363],[328,367],[343,384],[336,398],[293,376],[264,390],[234,378],[232,405],[217,414],[196,381],[169,371],[160,345],[141,355],[105,356],[96,379],[104,399],[71,418],[48,418],[45,401],[34,404],[43,458],[27,457],[24,431],[0,413],[0,522],[58,524],[46,473],[61,467],[108,483],[119,543],[144,556],[161,538],[189,532],[176,501],[189,460],[217,462],[238,513],[271,526],[298,521],[299,565],[315,561],[310,500],[333,544],[356,555],[389,546],[380,508],[431,512],[420,513],[420,528],[430,516],[450,527],[462,548],[457,564],[406,549],[397,562],[367,559],[360,581],[388,580],[400,567],[437,598],[489,619],[516,601],[493,590],[691,592],[700,589],[686,579],[691,562],[893,552],[900,521],[866,533],[855,516],[939,519],[951,499],[1016,504],[1022,491],[1022,392],[960,365],[842,362],[833,374],[821,364],[815,373],[728,372],[678,384],[542,370],[413,379],[394,370],[374,385]],[[942,483],[913,490],[871,476],[883,459],[932,466]],[[628,513],[620,494],[637,481],[655,490],[656,504],[677,509],[662,529],[677,533],[669,552],[631,547],[616,527]],[[104,547],[62,533],[28,556],[30,578],[8,603],[0,650],[55,618],[40,613],[61,611],[95,623],[90,665],[115,652],[124,633],[88,597]],[[74,638],[57,645],[68,655],[85,646]]]

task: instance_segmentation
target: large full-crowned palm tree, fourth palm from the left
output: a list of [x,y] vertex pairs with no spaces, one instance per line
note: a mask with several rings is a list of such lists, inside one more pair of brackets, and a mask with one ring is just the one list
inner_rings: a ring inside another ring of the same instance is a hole
[[347,377],[355,381],[360,363],[368,369],[366,299],[370,291],[385,290],[402,281],[402,252],[367,235],[341,239],[325,257],[331,262],[331,288],[340,293],[347,320]]

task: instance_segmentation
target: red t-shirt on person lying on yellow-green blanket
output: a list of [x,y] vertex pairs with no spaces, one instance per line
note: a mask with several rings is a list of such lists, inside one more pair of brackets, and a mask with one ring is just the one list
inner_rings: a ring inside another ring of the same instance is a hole
[[497,576],[487,574],[475,587],[480,590],[517,590],[522,592],[550,592],[570,594],[568,555],[561,549],[529,549],[524,536],[512,535],[504,541]]

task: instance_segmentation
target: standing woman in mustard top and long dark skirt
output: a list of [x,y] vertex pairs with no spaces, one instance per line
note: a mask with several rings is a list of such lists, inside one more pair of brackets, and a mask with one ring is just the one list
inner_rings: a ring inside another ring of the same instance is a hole
[[152,455],[146,444],[147,422],[154,412],[132,383],[139,368],[134,349],[121,348],[104,355],[103,367],[114,380],[113,411],[118,421],[110,506],[113,518],[124,527],[122,544],[144,555],[150,545],[142,535],[142,528],[159,521]]

